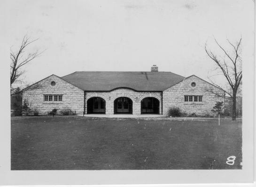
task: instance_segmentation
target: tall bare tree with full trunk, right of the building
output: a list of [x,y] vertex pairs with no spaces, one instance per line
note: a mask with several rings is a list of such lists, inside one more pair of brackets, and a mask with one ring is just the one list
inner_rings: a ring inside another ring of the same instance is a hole
[[[215,38],[214,40],[217,46],[219,47],[219,49],[223,52],[223,56],[222,57],[217,56],[211,50],[207,49],[207,43],[205,43],[205,51],[209,56],[209,58],[211,58],[217,65],[217,70],[219,70],[219,72],[222,75],[224,75],[229,88],[231,88],[229,89],[231,90],[231,92],[226,91],[221,86],[215,83],[213,84],[218,88],[224,90],[225,95],[223,97],[233,101],[232,120],[236,120],[236,97],[237,97],[237,91],[242,81],[242,58],[240,56],[242,37],[236,43],[231,43],[227,39],[228,45],[231,48],[231,52],[224,49],[224,47],[222,47]],[[211,91],[211,92],[214,93],[214,91]],[[217,94],[217,93],[214,93],[214,94]],[[221,95],[218,95],[218,96],[221,96]]]

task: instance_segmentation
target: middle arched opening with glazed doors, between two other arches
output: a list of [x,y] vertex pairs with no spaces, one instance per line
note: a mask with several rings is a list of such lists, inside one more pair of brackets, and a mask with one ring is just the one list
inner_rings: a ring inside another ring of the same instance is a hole
[[128,97],[118,97],[114,101],[114,114],[132,114],[132,100]]

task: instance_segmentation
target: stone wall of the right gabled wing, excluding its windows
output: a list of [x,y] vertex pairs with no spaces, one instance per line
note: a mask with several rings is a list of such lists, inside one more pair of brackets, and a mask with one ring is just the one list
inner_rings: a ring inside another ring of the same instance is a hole
[[[192,82],[196,84],[194,87],[191,86]],[[182,112],[188,115],[193,113],[196,115],[214,115],[211,109],[214,107],[216,101],[224,100],[221,97],[217,97],[216,94],[210,93],[209,90],[224,94],[216,86],[194,75],[171,86],[163,91],[163,115],[167,115],[168,109],[173,107],[180,108]],[[185,95],[202,95],[202,102],[185,102]]]

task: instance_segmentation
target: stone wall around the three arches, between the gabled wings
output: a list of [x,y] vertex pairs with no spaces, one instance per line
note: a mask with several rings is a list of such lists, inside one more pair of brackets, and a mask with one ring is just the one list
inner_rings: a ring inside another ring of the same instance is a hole
[[114,114],[114,101],[118,97],[128,97],[132,100],[132,114],[140,115],[140,101],[146,97],[155,97],[159,100],[159,112],[161,114],[161,93],[160,92],[135,92],[132,89],[120,88],[111,92],[86,92],[85,93],[85,114],[87,114],[87,101],[92,97],[101,97],[106,101],[106,114]]

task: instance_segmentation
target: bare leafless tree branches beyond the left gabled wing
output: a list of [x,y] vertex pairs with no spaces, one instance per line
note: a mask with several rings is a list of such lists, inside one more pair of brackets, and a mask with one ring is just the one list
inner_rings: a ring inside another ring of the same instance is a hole
[[[38,57],[42,52],[39,52],[36,50],[33,53],[29,53],[25,57],[23,57],[25,49],[28,45],[31,43],[37,41],[30,40],[28,36],[23,37],[23,41],[21,43],[21,46],[19,47],[19,50],[17,52],[13,52],[11,50],[10,52],[10,58],[11,58],[11,65],[10,65],[10,84],[11,84],[11,95],[18,94],[17,92],[21,92],[19,89],[16,89],[13,85],[19,81],[21,81],[21,76],[24,74],[24,71],[22,70],[22,67],[29,62],[31,62],[34,58]],[[38,84],[34,86],[30,86],[29,89],[36,89],[38,88]]]

